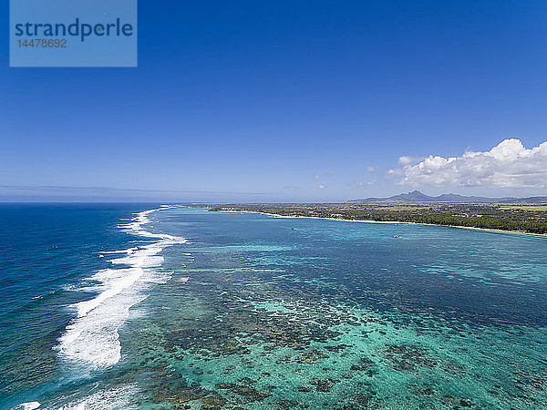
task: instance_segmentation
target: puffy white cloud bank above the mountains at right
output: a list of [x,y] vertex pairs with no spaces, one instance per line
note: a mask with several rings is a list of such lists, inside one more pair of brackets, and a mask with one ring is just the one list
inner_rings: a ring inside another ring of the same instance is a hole
[[429,155],[416,165],[411,162],[401,157],[403,168],[389,173],[414,186],[547,188],[547,141],[526,149],[520,139],[504,139],[490,151],[467,151],[448,159]]

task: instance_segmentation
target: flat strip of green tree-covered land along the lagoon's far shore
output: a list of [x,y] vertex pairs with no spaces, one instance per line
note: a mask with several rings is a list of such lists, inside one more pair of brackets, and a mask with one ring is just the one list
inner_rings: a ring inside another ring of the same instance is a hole
[[213,205],[212,211],[254,211],[284,216],[376,220],[547,234],[547,206],[508,204],[254,204]]

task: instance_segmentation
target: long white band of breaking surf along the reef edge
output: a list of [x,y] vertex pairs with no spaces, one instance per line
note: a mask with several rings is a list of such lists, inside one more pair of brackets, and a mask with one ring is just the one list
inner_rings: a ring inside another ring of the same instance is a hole
[[153,233],[143,227],[150,223],[150,213],[172,208],[176,207],[161,206],[159,209],[145,210],[137,213],[129,223],[119,225],[120,229],[130,234],[155,241],[127,250],[101,252],[101,255],[121,255],[110,261],[112,268],[88,278],[89,281],[99,282],[92,289],[100,293],[90,301],[74,305],[77,318],[67,325],[66,332],[58,340],[58,354],[63,359],[71,364],[83,364],[88,369],[119,362],[121,345],[118,329],[129,316],[129,308],[148,297],[146,291],[150,288],[150,282],[170,279],[169,273],[154,269],[163,262],[163,257],[158,254],[169,246],[186,242],[184,238]]

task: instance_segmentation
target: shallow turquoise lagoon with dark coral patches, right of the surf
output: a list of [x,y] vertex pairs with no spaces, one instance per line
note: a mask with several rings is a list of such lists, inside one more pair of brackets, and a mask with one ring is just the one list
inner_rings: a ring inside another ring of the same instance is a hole
[[165,251],[172,280],[122,335],[157,382],[137,383],[139,405],[547,403],[542,238],[199,210],[158,218],[185,232],[191,257]]

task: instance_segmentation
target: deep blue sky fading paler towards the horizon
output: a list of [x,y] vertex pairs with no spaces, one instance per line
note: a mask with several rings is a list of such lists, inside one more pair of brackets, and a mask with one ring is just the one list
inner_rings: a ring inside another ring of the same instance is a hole
[[[140,0],[138,68],[9,68],[5,30],[0,198],[545,194],[520,176],[547,172],[546,21],[542,1]],[[508,138],[528,150],[479,155],[485,178],[461,157]],[[432,180],[429,155],[462,165]]]

